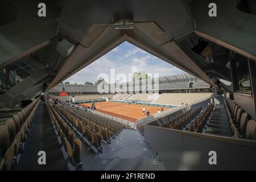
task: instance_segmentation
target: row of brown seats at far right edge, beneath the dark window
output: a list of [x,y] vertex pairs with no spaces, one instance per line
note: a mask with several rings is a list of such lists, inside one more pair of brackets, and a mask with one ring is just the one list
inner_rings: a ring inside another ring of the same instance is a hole
[[256,122],[250,119],[250,115],[230,98],[225,100],[225,108],[233,137],[256,140]]

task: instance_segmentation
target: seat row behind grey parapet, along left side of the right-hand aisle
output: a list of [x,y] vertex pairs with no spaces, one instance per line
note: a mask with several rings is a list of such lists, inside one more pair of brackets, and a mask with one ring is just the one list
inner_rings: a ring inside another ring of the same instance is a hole
[[210,103],[206,109],[200,113],[199,117],[195,119],[191,125],[188,127],[188,131],[196,132],[196,133],[202,133],[210,114],[212,113],[212,110],[214,108],[214,103]]

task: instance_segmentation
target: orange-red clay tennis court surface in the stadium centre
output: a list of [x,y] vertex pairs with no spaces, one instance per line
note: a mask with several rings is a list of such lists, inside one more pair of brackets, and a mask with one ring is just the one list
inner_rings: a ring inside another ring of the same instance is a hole
[[[79,104],[80,106],[92,106],[92,103],[87,104]],[[137,104],[125,104],[118,102],[96,102],[96,111],[100,111],[101,113],[113,115],[114,117],[126,119],[127,121],[136,122],[137,119],[145,118],[145,115],[142,115],[142,107],[143,105]],[[100,106],[100,107],[99,107]],[[98,109],[100,108],[100,109]],[[155,106],[145,106],[146,111],[150,111],[150,115],[158,112],[158,109],[161,107]],[[163,107],[164,110],[170,109]]]

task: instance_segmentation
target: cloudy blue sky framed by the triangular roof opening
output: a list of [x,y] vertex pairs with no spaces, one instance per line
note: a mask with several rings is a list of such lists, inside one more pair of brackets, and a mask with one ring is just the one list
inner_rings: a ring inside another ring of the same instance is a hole
[[[130,81],[131,74],[135,72],[152,74],[151,78],[185,73],[141,48],[129,42],[123,42],[64,82],[85,84],[89,81],[94,84],[101,76],[106,82],[112,84],[126,81],[125,77]],[[123,76],[123,81],[120,80],[120,76]]]

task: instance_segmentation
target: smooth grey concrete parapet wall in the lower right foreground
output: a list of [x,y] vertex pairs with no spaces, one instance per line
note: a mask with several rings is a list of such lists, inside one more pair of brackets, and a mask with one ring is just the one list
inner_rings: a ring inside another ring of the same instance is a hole
[[[256,142],[146,125],[144,136],[167,170],[256,169]],[[210,165],[209,151],[217,164]]]

